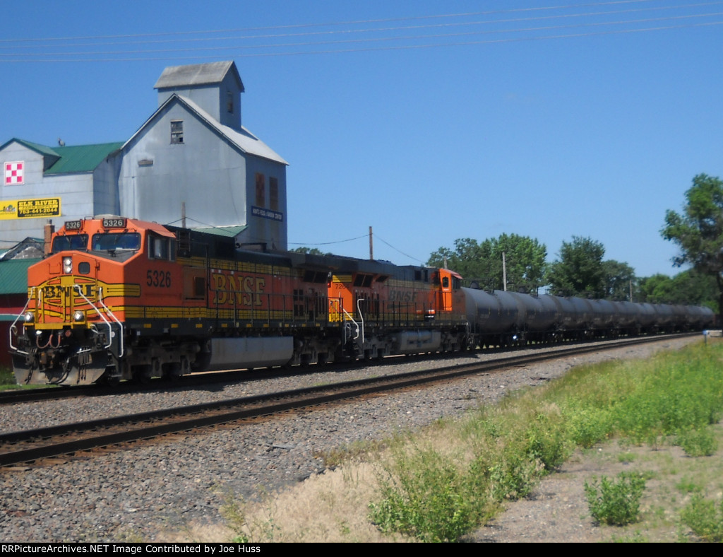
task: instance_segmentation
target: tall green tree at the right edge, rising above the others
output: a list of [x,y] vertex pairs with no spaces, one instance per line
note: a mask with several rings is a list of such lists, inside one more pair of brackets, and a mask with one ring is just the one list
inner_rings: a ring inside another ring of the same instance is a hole
[[674,265],[692,265],[699,273],[715,277],[718,311],[723,318],[723,182],[698,174],[685,192],[685,200],[683,213],[666,211],[660,233],[680,248]]

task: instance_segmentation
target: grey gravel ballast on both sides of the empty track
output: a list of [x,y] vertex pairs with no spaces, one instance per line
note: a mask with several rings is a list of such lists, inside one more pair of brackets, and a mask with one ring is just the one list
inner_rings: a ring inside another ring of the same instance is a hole
[[[460,415],[470,407],[497,401],[509,391],[557,378],[574,365],[649,357],[661,349],[678,349],[698,340],[690,337],[660,341],[515,367],[445,386],[296,412],[252,425],[225,426],[100,456],[61,459],[53,466],[4,472],[0,475],[0,539],[153,542],[161,532],[182,530],[192,522],[221,524],[220,509],[229,494],[251,500],[259,493],[304,480],[324,469],[318,455],[326,451],[419,428],[440,417]],[[470,354],[458,358],[458,362],[504,355]],[[444,365],[454,362],[445,360]],[[0,423],[1,430],[7,433],[423,367],[430,367],[429,362],[401,359],[398,365],[360,366],[343,373],[321,371],[192,390],[17,404],[0,407]]]

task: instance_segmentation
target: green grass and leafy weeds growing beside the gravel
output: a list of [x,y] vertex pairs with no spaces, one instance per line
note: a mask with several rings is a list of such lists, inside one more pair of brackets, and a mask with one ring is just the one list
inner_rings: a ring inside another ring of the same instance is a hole
[[[453,541],[484,524],[502,501],[526,496],[575,448],[618,438],[633,445],[677,444],[689,456],[713,454],[717,443],[709,425],[723,412],[722,360],[723,345],[701,344],[646,361],[580,367],[480,408],[445,429],[447,448],[395,448],[370,518],[384,532]],[[645,485],[639,476],[591,481],[592,516],[609,524],[638,518],[635,503]],[[701,537],[714,539],[723,531],[723,507],[695,501],[683,522],[696,532],[690,524],[701,516]],[[618,508],[619,516],[613,512]]]

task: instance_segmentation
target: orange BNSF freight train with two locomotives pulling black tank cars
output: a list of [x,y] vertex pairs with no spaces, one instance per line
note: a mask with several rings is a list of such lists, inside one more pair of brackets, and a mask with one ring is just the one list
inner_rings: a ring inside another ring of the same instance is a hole
[[125,218],[67,221],[12,324],[20,384],[84,385],[701,330],[703,307],[487,292],[446,268],[241,250]]

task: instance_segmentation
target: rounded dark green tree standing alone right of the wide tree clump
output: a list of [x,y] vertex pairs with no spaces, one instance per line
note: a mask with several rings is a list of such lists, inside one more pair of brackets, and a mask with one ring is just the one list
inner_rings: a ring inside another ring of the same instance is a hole
[[552,292],[565,296],[602,298],[605,294],[605,268],[602,243],[573,236],[562,242],[559,259],[549,265],[547,281]]

